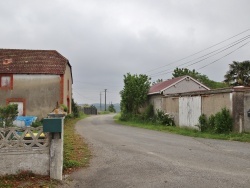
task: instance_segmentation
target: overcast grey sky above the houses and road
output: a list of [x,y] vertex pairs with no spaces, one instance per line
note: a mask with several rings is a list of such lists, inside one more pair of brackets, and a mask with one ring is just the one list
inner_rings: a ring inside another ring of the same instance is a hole
[[57,50],[78,104],[119,103],[127,73],[151,82],[176,67],[223,81],[250,60],[249,0],[8,0],[0,48]]

